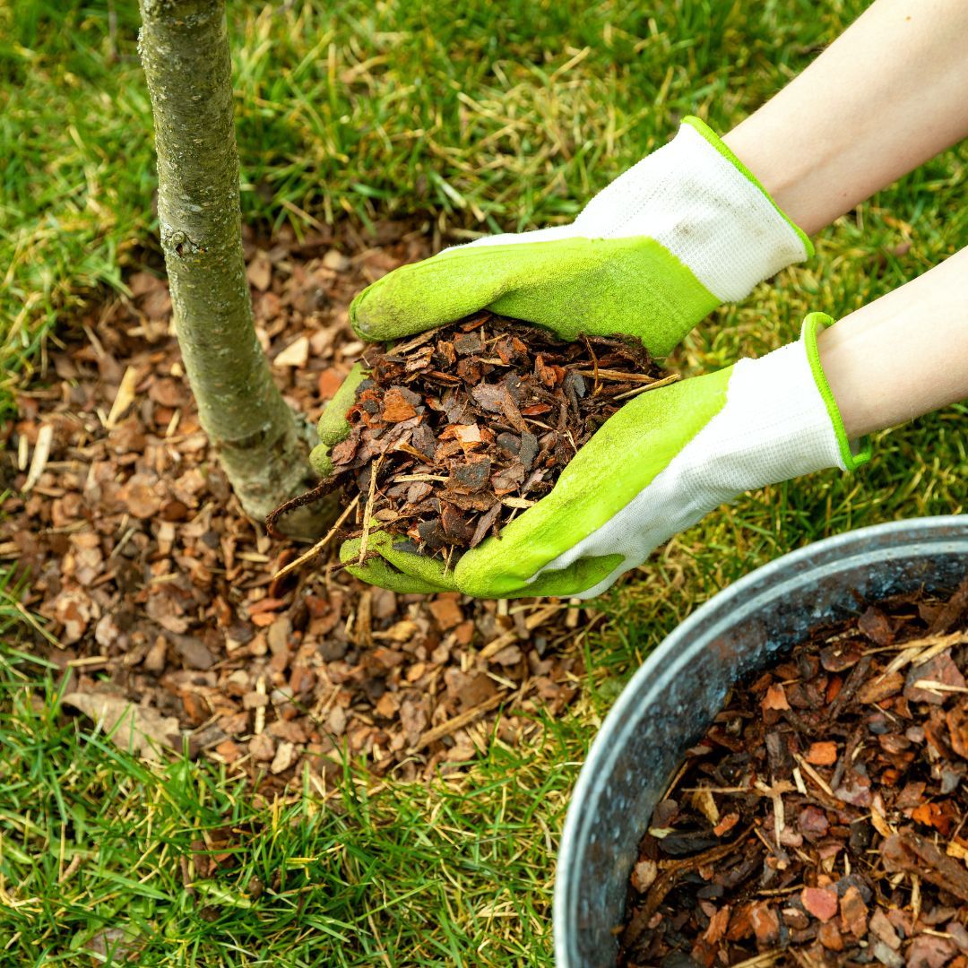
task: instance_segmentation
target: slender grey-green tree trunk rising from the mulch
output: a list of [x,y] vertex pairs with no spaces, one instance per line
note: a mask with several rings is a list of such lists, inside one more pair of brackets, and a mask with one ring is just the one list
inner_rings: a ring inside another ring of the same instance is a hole
[[[138,45],[155,115],[158,219],[178,342],[212,442],[246,513],[316,483],[310,431],[287,407],[258,345],[242,256],[225,0],[139,0]],[[331,516],[281,522],[310,537]]]

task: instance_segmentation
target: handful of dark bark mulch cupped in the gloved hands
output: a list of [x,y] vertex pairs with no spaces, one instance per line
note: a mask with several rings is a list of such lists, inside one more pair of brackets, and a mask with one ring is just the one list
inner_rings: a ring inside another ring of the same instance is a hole
[[363,359],[318,493],[359,496],[350,537],[379,528],[448,561],[546,495],[626,400],[672,379],[635,340],[566,343],[487,312]]

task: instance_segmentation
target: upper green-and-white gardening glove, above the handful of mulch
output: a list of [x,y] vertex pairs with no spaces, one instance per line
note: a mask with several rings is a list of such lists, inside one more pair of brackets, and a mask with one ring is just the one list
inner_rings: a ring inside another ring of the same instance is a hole
[[567,226],[493,235],[405,265],[349,308],[396,340],[489,309],[573,340],[621,333],[664,356],[711,310],[813,254],[810,240],[699,118]]

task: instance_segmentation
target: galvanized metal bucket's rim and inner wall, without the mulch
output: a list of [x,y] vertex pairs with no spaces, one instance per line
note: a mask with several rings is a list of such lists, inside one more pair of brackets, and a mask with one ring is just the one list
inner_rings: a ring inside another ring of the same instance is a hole
[[860,602],[951,591],[968,571],[968,517],[918,518],[839,534],[719,592],[651,653],[609,712],[572,794],[555,885],[559,968],[613,968],[613,929],[638,843],[685,750],[730,685]]

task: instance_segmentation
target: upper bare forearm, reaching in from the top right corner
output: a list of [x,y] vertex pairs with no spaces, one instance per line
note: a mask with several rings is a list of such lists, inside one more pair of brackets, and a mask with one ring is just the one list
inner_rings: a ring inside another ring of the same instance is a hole
[[724,140],[812,234],[968,135],[968,3],[877,0]]

